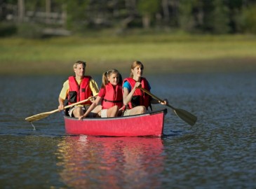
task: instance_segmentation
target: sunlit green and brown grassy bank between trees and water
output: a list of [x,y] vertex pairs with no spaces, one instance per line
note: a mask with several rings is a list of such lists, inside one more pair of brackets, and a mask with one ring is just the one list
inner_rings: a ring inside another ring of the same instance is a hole
[[129,72],[140,60],[146,73],[256,71],[256,36],[91,34],[43,40],[0,38],[0,74],[70,74],[76,60],[87,72]]

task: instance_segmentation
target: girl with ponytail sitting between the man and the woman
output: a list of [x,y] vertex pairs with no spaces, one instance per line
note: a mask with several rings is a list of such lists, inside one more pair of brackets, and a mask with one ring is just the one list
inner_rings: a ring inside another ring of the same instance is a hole
[[118,116],[123,106],[122,82],[121,74],[116,69],[110,69],[103,73],[102,86],[97,98],[86,113],[79,117],[79,120],[85,118],[100,102],[102,105],[100,116],[102,118]]

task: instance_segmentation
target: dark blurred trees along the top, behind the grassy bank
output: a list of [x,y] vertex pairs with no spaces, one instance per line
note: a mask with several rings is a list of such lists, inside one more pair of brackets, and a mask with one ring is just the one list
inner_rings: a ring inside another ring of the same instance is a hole
[[[139,28],[256,34],[256,0],[0,0],[0,7],[0,30],[5,23],[30,22],[73,32]],[[50,22],[53,13],[60,16]],[[36,20],[36,15],[43,18]]]

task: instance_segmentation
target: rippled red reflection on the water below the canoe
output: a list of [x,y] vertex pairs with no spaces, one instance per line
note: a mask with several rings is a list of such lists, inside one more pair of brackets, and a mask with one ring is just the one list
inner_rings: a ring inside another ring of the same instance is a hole
[[157,188],[165,156],[161,138],[67,136],[56,153],[72,188]]

